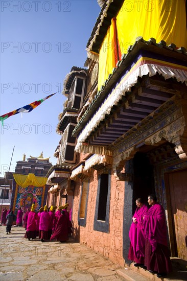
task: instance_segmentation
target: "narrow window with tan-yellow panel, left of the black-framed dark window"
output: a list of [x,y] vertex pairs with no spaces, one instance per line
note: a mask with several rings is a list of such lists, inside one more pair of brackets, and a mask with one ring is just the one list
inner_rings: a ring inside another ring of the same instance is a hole
[[79,212],[78,212],[78,222],[79,225],[81,226],[86,225],[88,193],[89,193],[89,182],[83,181],[80,203],[79,203]]

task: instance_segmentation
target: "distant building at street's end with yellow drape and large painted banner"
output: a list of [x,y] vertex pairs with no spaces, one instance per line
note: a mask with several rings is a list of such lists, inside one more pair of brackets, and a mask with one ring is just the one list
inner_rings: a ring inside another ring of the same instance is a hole
[[49,159],[43,158],[41,153],[39,157],[30,156],[26,160],[24,154],[22,161],[17,161],[10,204],[13,210],[21,207],[26,212],[33,203],[38,210],[46,203],[49,185],[46,184],[45,175],[52,167]]

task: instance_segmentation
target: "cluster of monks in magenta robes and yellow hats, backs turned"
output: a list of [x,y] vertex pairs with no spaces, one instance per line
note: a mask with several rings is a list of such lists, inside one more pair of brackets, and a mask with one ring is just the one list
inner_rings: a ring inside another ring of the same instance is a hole
[[68,203],[59,207],[51,206],[50,209],[45,205],[36,213],[35,204],[33,204],[31,211],[28,212],[27,231],[24,237],[28,240],[39,237],[41,242],[56,240],[63,243],[67,241],[68,235],[72,233],[72,223],[69,220],[67,207]]

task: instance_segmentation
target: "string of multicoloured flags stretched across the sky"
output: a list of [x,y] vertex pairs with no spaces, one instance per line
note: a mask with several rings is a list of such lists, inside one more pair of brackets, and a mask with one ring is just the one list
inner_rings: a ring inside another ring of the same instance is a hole
[[[57,92],[55,92],[55,93],[57,93]],[[50,96],[48,96],[48,97],[45,97],[45,98],[43,98],[43,99],[41,99],[41,100],[39,100],[39,101],[35,101],[35,102],[33,102],[33,103],[30,103],[30,104],[28,104],[28,105],[25,105],[25,106],[23,106],[23,107],[20,107],[20,108],[18,108],[18,109],[15,109],[15,110],[13,110],[13,111],[11,111],[11,112],[9,112],[9,113],[6,113],[6,114],[4,114],[4,115],[1,115],[1,116],[0,116],[0,121],[1,121],[2,124],[3,124],[4,120],[6,120],[7,118],[9,118],[9,117],[12,116],[12,115],[15,115],[15,114],[17,114],[17,113],[29,113],[29,112],[31,112],[34,108],[36,108],[36,107],[37,107],[38,105],[40,105],[42,102],[44,102],[45,100],[47,100],[47,99],[51,98],[52,96],[54,96],[55,93],[52,93],[52,95],[50,95]]]

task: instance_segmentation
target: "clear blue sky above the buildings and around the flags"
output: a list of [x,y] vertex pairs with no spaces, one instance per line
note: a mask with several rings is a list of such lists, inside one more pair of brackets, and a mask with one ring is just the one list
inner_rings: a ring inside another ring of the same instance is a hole
[[[63,88],[72,66],[84,66],[86,44],[100,13],[97,0],[1,1],[1,115]],[[65,97],[61,91],[30,113],[1,125],[1,173],[30,155],[53,156]]]

